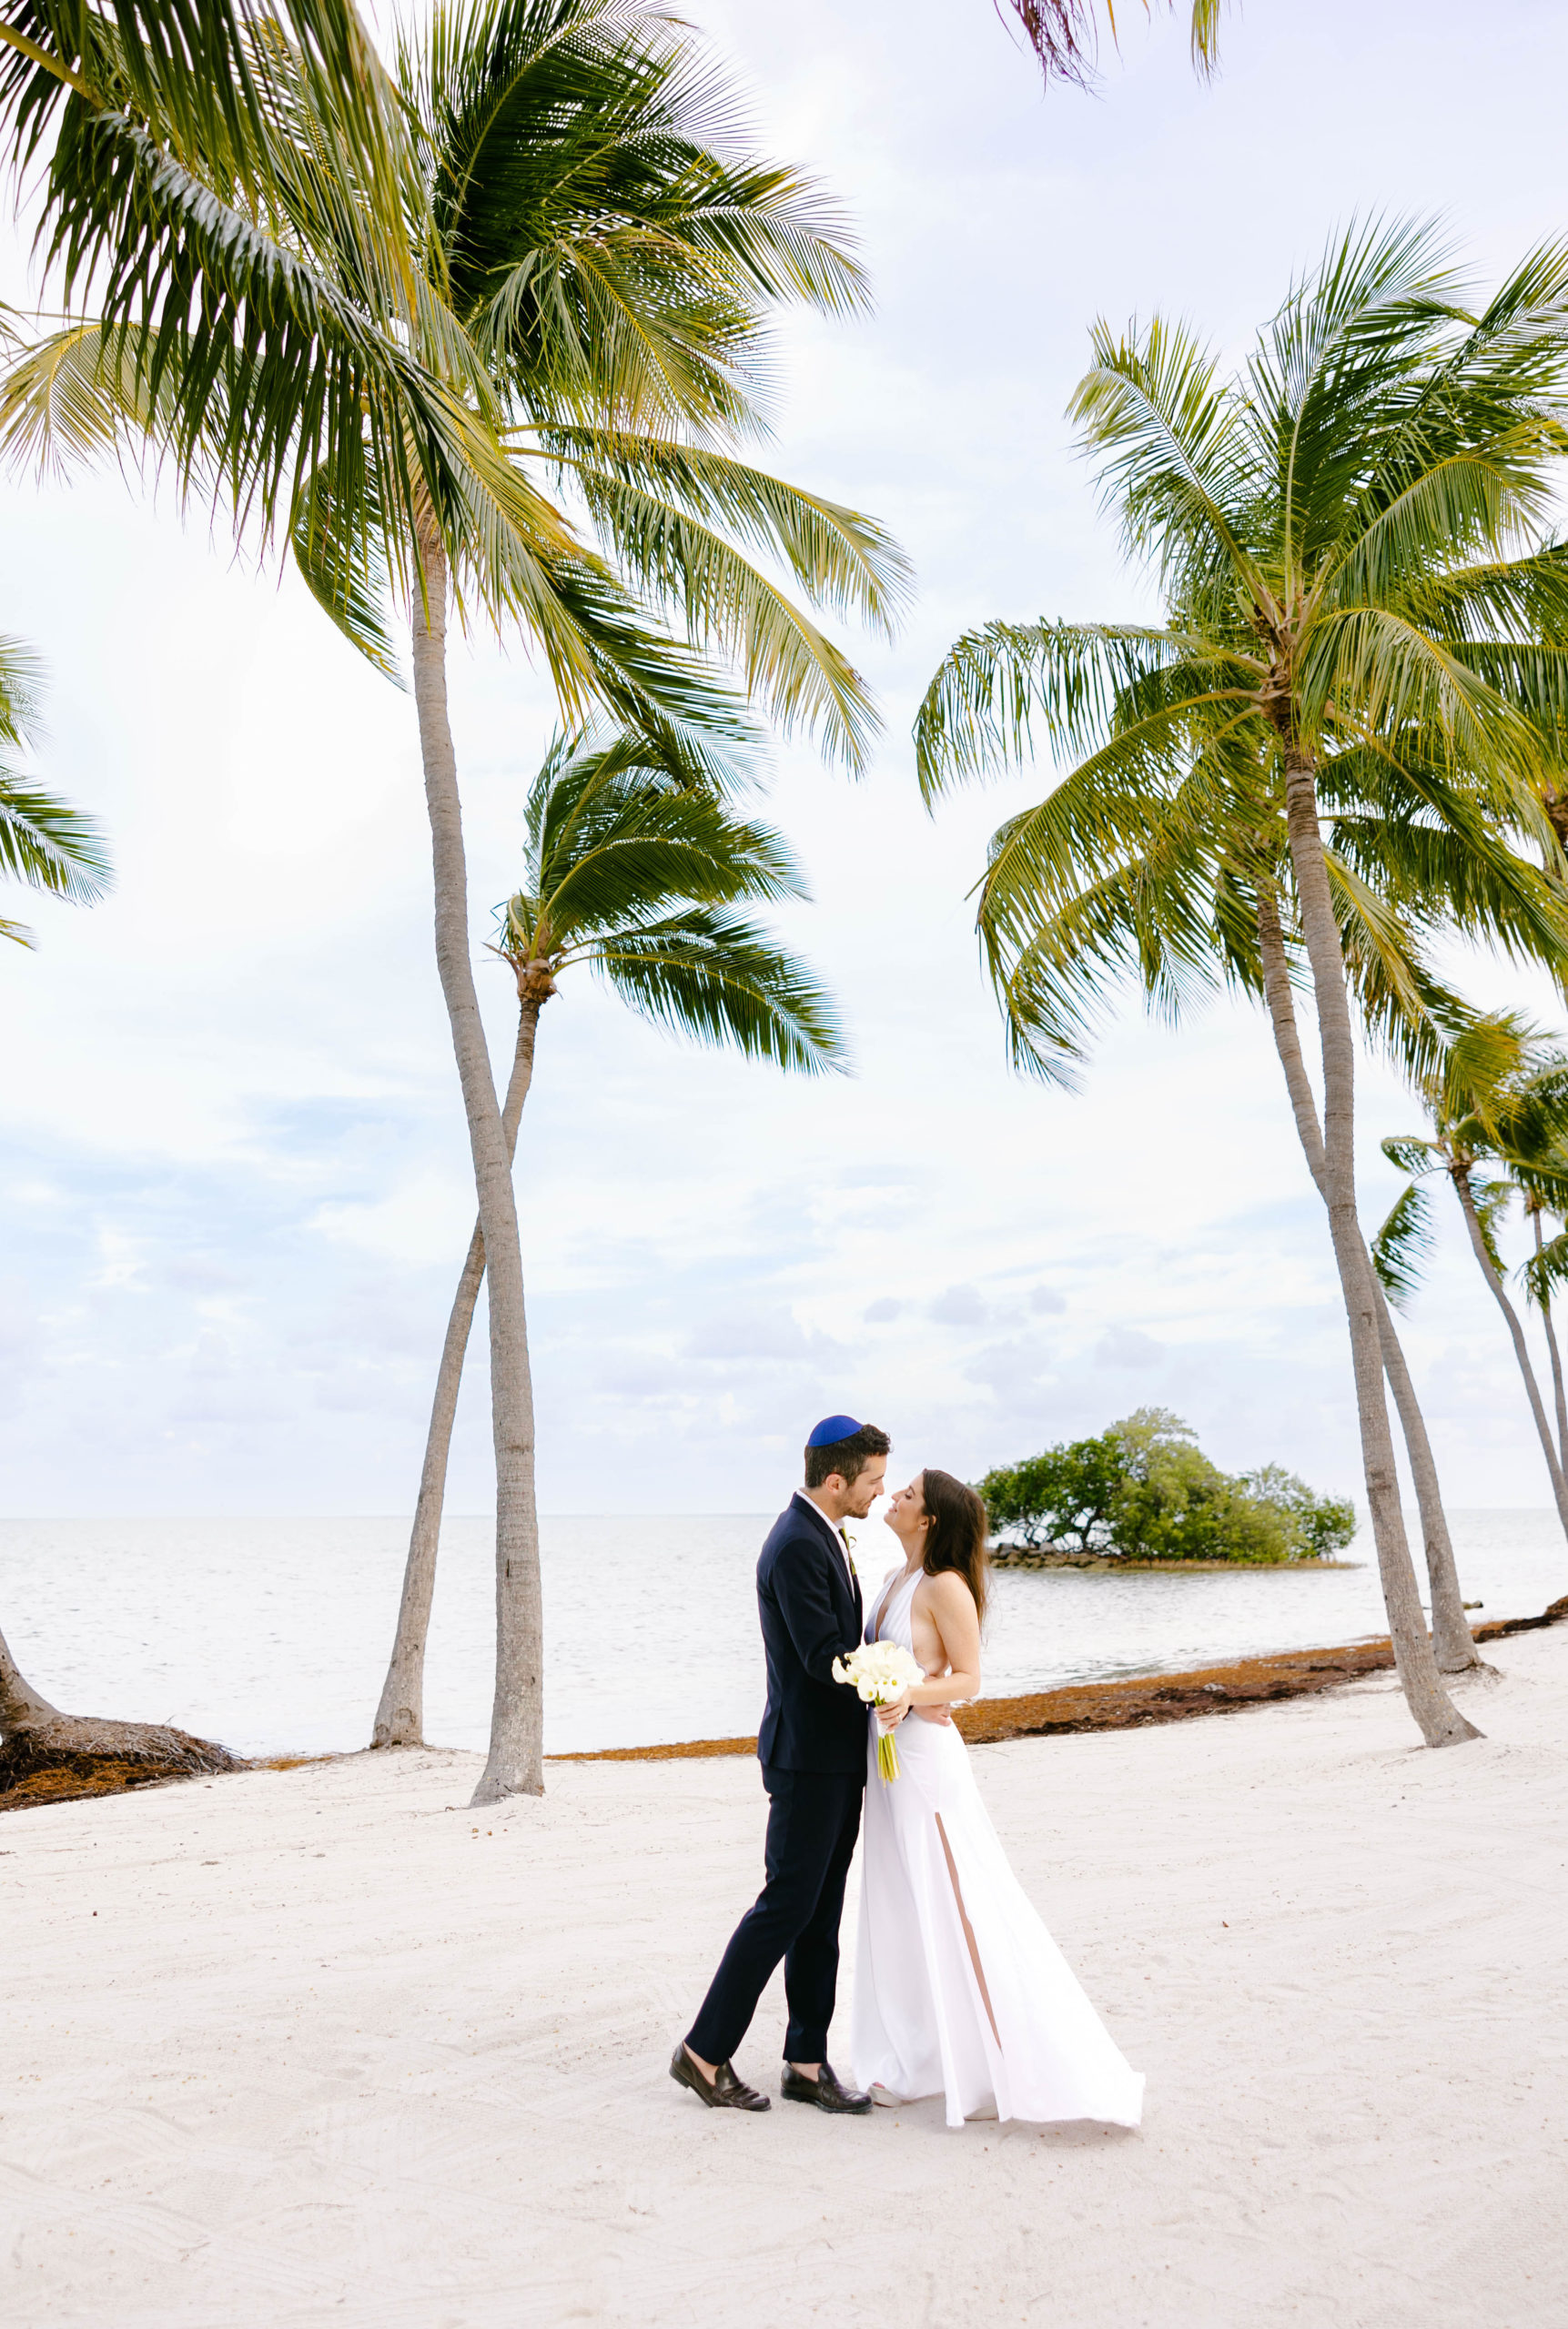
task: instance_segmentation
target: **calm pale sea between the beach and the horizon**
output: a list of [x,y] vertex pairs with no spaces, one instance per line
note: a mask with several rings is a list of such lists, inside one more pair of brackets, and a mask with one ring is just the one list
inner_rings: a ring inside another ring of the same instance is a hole
[[[638,1747],[755,1730],[753,1567],[764,1514],[557,1519],[545,1539],[545,1744]],[[1465,1600],[1526,1616],[1568,1593],[1547,1512],[1449,1516]],[[426,1737],[482,1747],[494,1647],[489,1521],[447,1521]],[[878,1523],[857,1565],[890,1567]],[[79,1714],[175,1721],[242,1754],[363,1747],[396,1619],[405,1521],[0,1521],[0,1628]],[[1351,1546],[1370,1563],[1370,1544]],[[1382,1633],[1377,1572],[997,1577],[986,1691],[1177,1672]]]

